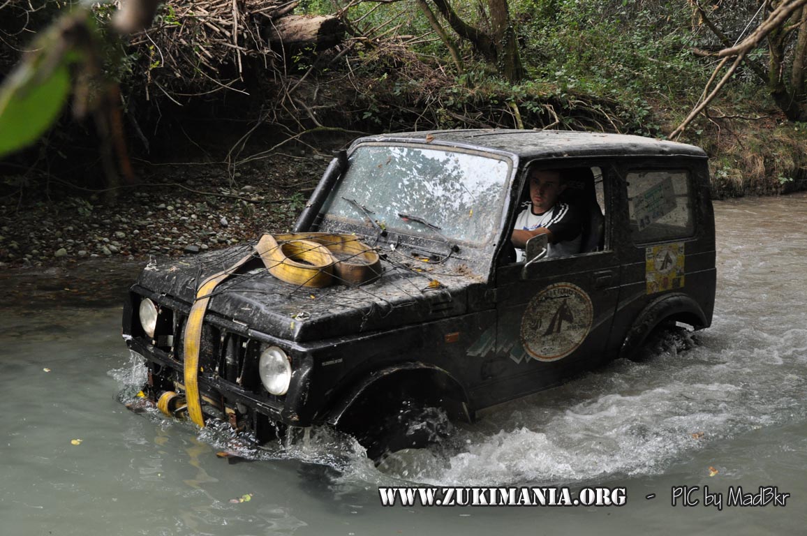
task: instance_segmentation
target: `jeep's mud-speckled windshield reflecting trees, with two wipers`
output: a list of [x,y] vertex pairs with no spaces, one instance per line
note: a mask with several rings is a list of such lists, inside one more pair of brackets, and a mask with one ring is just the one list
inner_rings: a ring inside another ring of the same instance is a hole
[[324,204],[327,220],[480,245],[498,228],[504,158],[415,146],[365,145]]

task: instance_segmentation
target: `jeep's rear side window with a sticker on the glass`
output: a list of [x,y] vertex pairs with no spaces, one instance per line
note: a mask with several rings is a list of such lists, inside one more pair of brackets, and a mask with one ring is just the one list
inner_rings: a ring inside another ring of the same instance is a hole
[[691,237],[695,232],[686,170],[631,171],[628,207],[634,243]]

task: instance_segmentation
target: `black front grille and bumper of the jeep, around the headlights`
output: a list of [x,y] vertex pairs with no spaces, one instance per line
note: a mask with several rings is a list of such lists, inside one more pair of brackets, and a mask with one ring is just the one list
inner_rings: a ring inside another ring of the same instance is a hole
[[[149,337],[140,326],[138,306],[147,297],[158,306],[157,329]],[[142,287],[133,287],[123,313],[123,335],[130,350],[142,356],[148,367],[144,391],[157,402],[165,392],[184,396],[183,337],[190,305]],[[269,345],[283,348],[292,360],[291,386],[286,395],[266,391],[258,375],[262,349]],[[235,429],[277,432],[278,425],[308,426],[314,423],[299,417],[306,400],[310,363],[294,343],[249,329],[208,312],[200,341],[199,396],[205,417],[228,421]]]

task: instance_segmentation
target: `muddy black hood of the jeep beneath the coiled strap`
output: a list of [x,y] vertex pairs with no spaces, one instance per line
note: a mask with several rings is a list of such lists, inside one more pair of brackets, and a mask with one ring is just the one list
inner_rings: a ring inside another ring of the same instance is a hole
[[[249,251],[228,249],[193,262],[152,264],[138,284],[192,304],[205,278]],[[382,276],[371,283],[309,288],[274,278],[256,258],[215,287],[207,310],[274,337],[317,341],[462,315],[468,310],[470,287],[484,286],[460,258],[416,267],[391,261],[382,260]]]

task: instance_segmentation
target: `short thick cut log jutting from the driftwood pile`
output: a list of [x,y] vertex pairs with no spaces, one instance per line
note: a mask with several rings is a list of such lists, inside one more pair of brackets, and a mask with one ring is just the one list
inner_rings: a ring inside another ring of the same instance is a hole
[[324,50],[342,42],[345,27],[339,19],[330,15],[288,15],[267,26],[266,37],[270,43],[282,44],[286,49],[313,47]]

